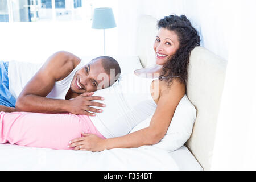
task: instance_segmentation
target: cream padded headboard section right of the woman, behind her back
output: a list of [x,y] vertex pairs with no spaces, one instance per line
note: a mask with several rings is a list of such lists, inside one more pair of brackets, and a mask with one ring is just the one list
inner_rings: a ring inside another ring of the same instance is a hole
[[226,65],[226,60],[214,55],[204,47],[198,46],[191,51],[187,96],[195,105],[197,116],[186,147],[204,170],[211,169]]

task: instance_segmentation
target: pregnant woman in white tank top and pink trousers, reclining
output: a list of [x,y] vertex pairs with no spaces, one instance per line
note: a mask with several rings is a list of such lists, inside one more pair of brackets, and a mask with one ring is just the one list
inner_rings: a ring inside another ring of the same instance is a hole
[[[124,75],[117,84],[97,91],[107,103],[103,113],[97,117],[0,113],[4,126],[0,143],[64,149],[67,141],[75,138],[67,144],[68,148],[90,151],[158,143],[166,134],[175,109],[186,92],[189,55],[195,46],[200,45],[197,31],[184,15],[166,16],[159,20],[158,28],[154,44],[156,65],[134,71],[133,75]],[[125,92],[131,88],[127,86],[129,80],[142,85],[139,93]],[[128,134],[153,113],[149,127]]]

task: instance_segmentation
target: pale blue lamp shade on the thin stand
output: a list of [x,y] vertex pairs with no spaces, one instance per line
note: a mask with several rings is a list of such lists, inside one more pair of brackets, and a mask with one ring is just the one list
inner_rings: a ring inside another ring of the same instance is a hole
[[92,28],[106,29],[117,27],[114,14],[110,7],[101,7],[94,9]]

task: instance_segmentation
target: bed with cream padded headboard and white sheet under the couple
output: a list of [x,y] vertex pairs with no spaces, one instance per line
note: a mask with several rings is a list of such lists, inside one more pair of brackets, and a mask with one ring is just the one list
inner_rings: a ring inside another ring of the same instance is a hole
[[[138,56],[113,56],[119,61],[122,72],[131,72],[154,63],[151,40],[156,35],[155,24],[155,18],[141,17],[138,26]],[[90,152],[23,147],[6,143],[0,144],[0,170],[208,170],[225,66],[224,60],[202,47],[192,51],[186,98],[195,108],[195,114],[192,116],[193,122],[189,123],[189,135],[178,142],[176,148],[170,145],[172,150],[164,150],[162,146],[154,145]],[[208,76],[204,77],[205,80],[200,80],[204,74]],[[211,86],[199,86],[197,82],[208,83],[209,80],[212,81],[211,84],[217,83],[218,88],[208,92]],[[143,125],[147,124],[145,121]]]

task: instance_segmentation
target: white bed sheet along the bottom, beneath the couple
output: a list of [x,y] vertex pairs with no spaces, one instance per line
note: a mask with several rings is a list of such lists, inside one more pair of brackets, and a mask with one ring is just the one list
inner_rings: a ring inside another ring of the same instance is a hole
[[0,144],[0,170],[201,170],[192,154],[153,146],[101,152],[52,150]]

